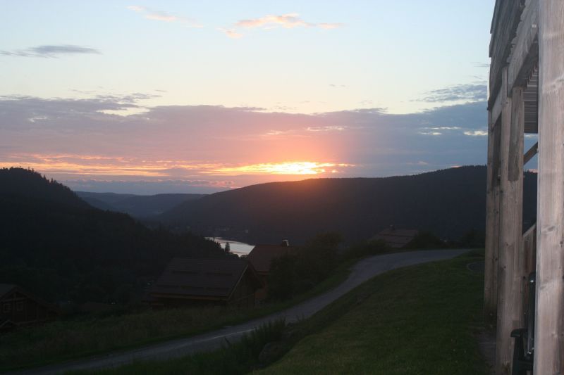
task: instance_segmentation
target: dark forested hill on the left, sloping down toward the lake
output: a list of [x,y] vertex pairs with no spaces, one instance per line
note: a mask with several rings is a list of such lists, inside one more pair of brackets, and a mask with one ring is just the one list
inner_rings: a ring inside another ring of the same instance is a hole
[[173,257],[225,256],[200,236],[92,208],[30,170],[0,170],[0,189],[0,283],[49,300],[130,302]]

